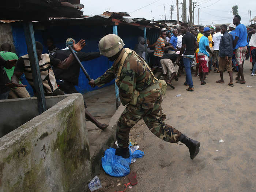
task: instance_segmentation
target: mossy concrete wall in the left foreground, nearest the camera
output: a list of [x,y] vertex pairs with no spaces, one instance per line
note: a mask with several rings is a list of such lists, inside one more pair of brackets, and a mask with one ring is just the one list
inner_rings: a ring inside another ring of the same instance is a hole
[[65,96],[0,138],[0,192],[84,191],[91,163],[83,96]]

